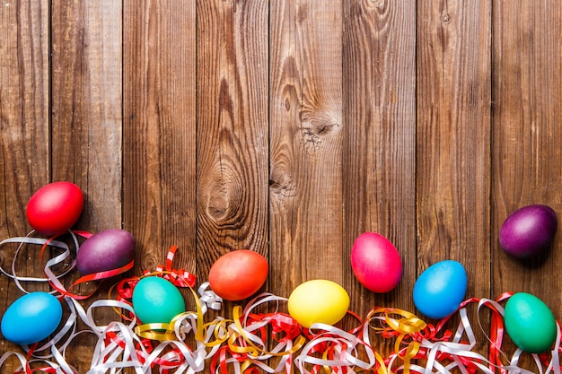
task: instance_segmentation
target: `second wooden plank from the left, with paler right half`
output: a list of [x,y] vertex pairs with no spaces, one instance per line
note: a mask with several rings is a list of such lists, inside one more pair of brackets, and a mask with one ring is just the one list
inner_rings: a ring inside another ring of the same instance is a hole
[[[52,4],[52,179],[82,188],[84,209],[75,228],[121,228],[121,4],[62,0]],[[74,280],[80,274],[74,274]],[[70,285],[71,282],[65,282]],[[111,282],[89,300],[107,298]],[[92,291],[92,284],[73,290]],[[115,320],[100,309],[96,320]],[[90,368],[97,339],[83,335],[66,350],[80,372]]]

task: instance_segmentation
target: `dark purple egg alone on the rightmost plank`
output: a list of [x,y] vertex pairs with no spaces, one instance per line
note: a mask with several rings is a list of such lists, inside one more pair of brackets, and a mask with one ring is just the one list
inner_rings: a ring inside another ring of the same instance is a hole
[[535,257],[550,247],[557,229],[557,214],[548,205],[523,206],[505,219],[499,244],[513,257]]

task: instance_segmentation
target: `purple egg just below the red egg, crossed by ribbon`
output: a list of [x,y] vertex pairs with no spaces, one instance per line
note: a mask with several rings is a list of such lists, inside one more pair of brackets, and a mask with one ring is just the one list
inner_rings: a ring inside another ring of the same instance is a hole
[[95,274],[127,265],[135,258],[135,238],[127,230],[101,230],[83,242],[76,255],[80,274]]

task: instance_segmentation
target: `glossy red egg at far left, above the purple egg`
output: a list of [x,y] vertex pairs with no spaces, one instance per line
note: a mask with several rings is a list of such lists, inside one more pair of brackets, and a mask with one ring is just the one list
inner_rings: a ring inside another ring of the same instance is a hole
[[31,227],[42,235],[58,235],[69,230],[82,214],[83,194],[74,183],[60,181],[41,187],[27,204]]

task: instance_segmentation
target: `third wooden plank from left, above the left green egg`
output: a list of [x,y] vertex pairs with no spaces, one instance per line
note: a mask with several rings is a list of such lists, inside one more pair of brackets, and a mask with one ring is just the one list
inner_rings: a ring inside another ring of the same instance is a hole
[[195,272],[195,4],[124,4],[123,222],[136,272],[171,246]]

